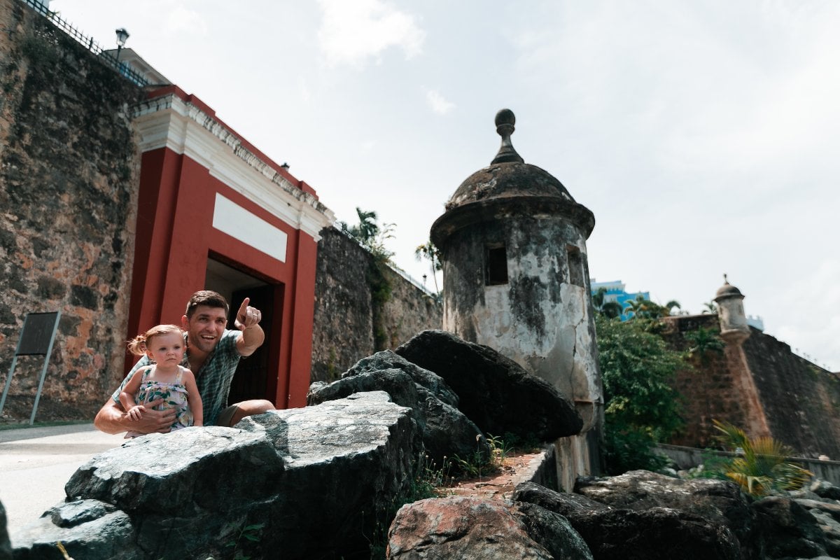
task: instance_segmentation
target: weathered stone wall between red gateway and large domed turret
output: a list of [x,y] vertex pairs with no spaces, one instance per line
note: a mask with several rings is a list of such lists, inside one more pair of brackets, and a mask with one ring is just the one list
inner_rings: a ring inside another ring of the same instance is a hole
[[417,332],[441,327],[441,306],[393,270],[385,270],[391,293],[376,311],[371,290],[373,256],[336,228],[325,228],[321,235],[312,381],[338,379],[365,356],[396,348]]

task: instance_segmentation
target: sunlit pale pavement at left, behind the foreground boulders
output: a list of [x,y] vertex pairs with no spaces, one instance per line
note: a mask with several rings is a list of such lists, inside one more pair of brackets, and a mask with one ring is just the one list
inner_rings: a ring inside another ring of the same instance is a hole
[[124,441],[92,424],[0,431],[0,501],[9,535],[64,500],[64,484],[76,468]]

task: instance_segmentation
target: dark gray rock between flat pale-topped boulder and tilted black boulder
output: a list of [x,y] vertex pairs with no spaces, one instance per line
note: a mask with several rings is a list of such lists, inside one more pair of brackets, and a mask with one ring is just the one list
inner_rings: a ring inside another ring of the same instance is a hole
[[[400,362],[403,366],[400,369],[387,367]],[[383,369],[373,369],[375,367]],[[426,453],[438,467],[444,465],[445,458],[455,455],[471,458],[474,453],[481,453],[484,458],[490,457],[490,446],[478,427],[450,404],[457,404],[458,400],[443,379],[390,351],[361,360],[342,379],[329,385],[312,384],[307,404],[317,405],[375,390],[386,391],[397,405],[412,409]]]

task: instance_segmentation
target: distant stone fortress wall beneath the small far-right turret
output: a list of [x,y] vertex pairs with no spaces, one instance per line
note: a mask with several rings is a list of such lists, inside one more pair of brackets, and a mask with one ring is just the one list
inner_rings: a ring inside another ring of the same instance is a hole
[[[682,333],[709,328],[717,334],[717,315],[667,317],[666,338],[686,350]],[[712,447],[713,419],[728,421],[751,437],[770,435],[803,457],[840,458],[840,375],[796,356],[790,346],[750,328],[742,346],[727,344],[705,363],[677,374],[676,388],[685,398],[685,431],[677,445]]]

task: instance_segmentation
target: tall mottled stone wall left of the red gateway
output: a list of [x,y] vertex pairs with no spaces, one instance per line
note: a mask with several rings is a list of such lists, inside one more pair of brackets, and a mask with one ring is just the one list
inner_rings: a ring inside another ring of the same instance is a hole
[[[92,418],[122,373],[142,91],[16,0],[0,0],[0,382],[28,312],[61,311],[40,420]],[[40,357],[4,416],[29,418]]]

